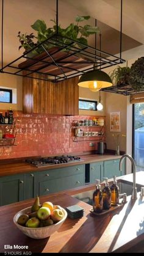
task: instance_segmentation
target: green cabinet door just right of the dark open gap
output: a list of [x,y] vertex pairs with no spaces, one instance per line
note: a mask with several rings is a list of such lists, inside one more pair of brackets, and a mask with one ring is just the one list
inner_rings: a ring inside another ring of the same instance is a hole
[[90,183],[95,183],[95,180],[103,180],[103,166],[103,161],[90,164]]

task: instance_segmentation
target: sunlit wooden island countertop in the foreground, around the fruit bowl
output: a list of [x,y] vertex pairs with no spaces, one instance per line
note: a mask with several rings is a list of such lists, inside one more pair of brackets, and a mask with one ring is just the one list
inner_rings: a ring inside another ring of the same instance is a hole
[[[15,213],[31,206],[34,199],[0,207],[0,252],[144,252],[144,197],[139,193],[132,202],[129,196],[122,207],[103,216],[93,216],[91,205],[72,197],[92,189],[95,186],[88,185],[40,197],[41,203],[51,201],[62,207],[78,204],[84,208],[82,218],[67,218],[56,233],[43,240],[27,237],[13,224]],[[14,244],[28,246],[28,249],[9,249]]]

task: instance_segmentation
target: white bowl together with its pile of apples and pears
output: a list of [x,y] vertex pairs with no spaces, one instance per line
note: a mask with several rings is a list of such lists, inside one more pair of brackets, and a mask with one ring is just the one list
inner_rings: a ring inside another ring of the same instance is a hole
[[32,207],[24,208],[13,217],[13,222],[25,235],[43,239],[56,232],[67,218],[67,211],[52,202],[40,205],[39,197]]

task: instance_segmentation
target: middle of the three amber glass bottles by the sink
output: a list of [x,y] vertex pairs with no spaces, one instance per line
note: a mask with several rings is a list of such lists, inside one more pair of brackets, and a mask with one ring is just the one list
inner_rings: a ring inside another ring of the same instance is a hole
[[109,210],[111,206],[111,190],[109,188],[109,183],[107,182],[108,178],[105,178],[103,192],[103,209]]

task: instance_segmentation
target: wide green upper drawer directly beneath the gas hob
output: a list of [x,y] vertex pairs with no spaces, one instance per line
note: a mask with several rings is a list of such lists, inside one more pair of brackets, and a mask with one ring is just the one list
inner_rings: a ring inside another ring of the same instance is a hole
[[84,165],[70,166],[65,168],[41,170],[38,172],[38,180],[53,180],[54,178],[62,178],[76,174],[84,173]]

